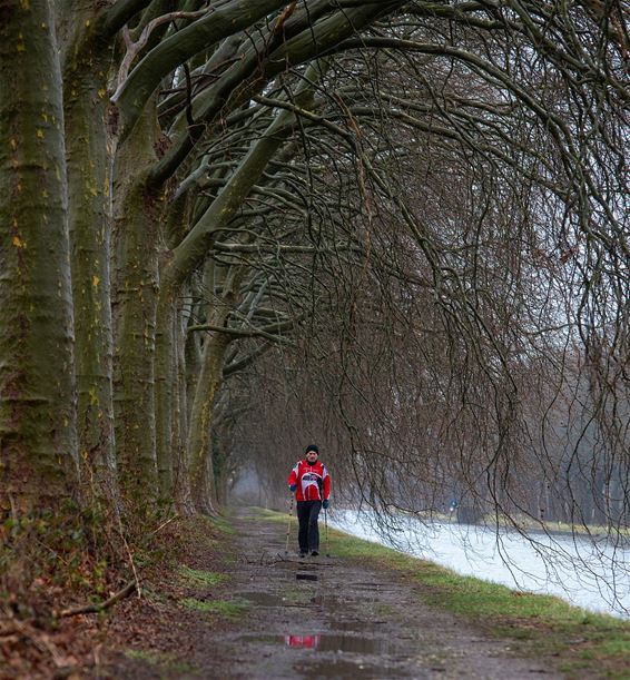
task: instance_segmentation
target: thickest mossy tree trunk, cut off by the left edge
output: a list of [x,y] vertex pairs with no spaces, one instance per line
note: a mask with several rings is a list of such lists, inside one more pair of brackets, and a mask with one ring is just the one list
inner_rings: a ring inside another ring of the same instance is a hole
[[48,0],[0,2],[0,507],[77,481],[62,86]]

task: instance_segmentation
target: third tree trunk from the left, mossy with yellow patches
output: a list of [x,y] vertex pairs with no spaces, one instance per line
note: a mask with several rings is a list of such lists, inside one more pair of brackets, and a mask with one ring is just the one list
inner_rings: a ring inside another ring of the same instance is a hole
[[115,416],[120,484],[131,504],[157,500],[155,334],[158,289],[158,197],[142,181],[155,161],[148,112],[118,152],[115,216]]

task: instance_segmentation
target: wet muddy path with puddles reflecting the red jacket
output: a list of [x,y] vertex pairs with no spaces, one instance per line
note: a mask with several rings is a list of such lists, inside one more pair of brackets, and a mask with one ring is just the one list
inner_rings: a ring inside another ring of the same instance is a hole
[[421,587],[408,576],[325,554],[287,556],[286,525],[255,511],[238,511],[233,524],[237,558],[222,598],[240,613],[204,625],[201,612],[188,612],[171,625],[185,640],[180,661],[187,664],[160,668],[127,658],[108,677],[561,677],[544,659],[515,656],[509,640],[424,604]]

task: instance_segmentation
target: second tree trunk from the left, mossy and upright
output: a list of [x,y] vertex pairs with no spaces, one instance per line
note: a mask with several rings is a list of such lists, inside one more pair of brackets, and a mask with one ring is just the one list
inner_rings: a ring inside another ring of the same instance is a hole
[[[66,51],[65,116],[75,303],[77,430],[83,490],[117,505],[110,302],[111,166],[107,80],[111,49],[91,35],[93,10],[77,20]],[[91,19],[91,22],[90,22]],[[85,28],[85,27],[88,28]]]

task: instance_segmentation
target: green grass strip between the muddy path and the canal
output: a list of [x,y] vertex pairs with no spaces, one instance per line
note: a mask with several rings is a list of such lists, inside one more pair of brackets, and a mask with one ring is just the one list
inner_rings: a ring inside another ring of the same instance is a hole
[[[260,510],[258,518],[286,522],[286,514]],[[433,562],[328,530],[337,559],[391,569],[422,585],[422,600],[480,625],[490,634],[516,640],[521,653],[558,660],[568,677],[630,678],[630,622],[587,612],[550,595],[510,590],[461,576]]]

